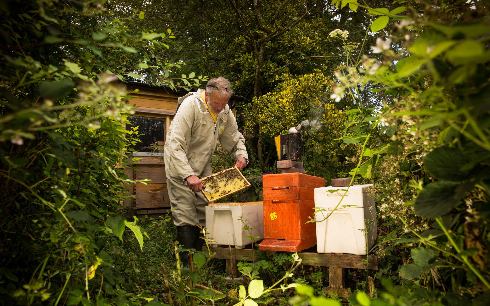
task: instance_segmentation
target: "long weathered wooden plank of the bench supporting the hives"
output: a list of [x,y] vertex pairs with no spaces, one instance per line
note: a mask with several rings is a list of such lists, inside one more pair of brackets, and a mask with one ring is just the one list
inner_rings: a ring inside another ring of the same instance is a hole
[[[205,249],[203,249],[205,250]],[[211,252],[216,253],[216,259],[230,259],[230,250],[228,248],[211,247]],[[231,249],[231,259],[252,261],[252,252],[257,250],[250,249]],[[274,256],[282,252],[267,251],[267,256]],[[311,253],[298,252],[298,256],[302,259],[301,264],[308,266],[322,267],[337,267],[337,268],[352,268],[366,269],[366,256],[353,254],[331,254],[331,253]],[[244,259],[247,258],[247,259]],[[254,257],[255,261],[259,260],[258,256]],[[369,256],[369,270],[378,270],[378,257],[376,255]]]

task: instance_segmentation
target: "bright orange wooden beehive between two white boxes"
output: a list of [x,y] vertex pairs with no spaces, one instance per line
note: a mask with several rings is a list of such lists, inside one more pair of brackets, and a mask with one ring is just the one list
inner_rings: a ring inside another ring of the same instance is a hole
[[260,250],[297,252],[315,245],[314,188],[325,187],[325,179],[303,173],[263,176],[264,240]]

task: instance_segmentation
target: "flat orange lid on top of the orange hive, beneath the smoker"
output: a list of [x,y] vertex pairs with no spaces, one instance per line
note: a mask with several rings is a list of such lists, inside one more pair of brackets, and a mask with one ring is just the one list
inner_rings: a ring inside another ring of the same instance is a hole
[[319,188],[325,186],[325,179],[318,176],[303,173],[279,173],[265,174],[262,176],[262,187],[310,187]]

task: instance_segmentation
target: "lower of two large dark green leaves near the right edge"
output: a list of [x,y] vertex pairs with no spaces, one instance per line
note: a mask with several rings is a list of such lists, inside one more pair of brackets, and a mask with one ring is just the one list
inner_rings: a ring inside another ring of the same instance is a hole
[[415,212],[426,218],[440,217],[450,212],[472,187],[472,183],[430,183],[418,194],[414,205]]

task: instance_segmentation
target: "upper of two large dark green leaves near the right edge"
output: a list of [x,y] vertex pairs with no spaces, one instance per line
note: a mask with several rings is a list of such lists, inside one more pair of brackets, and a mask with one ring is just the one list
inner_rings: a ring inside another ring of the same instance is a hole
[[471,169],[462,170],[468,161],[468,156],[459,148],[443,146],[435,148],[424,156],[424,168],[434,177],[459,182],[469,177]]

